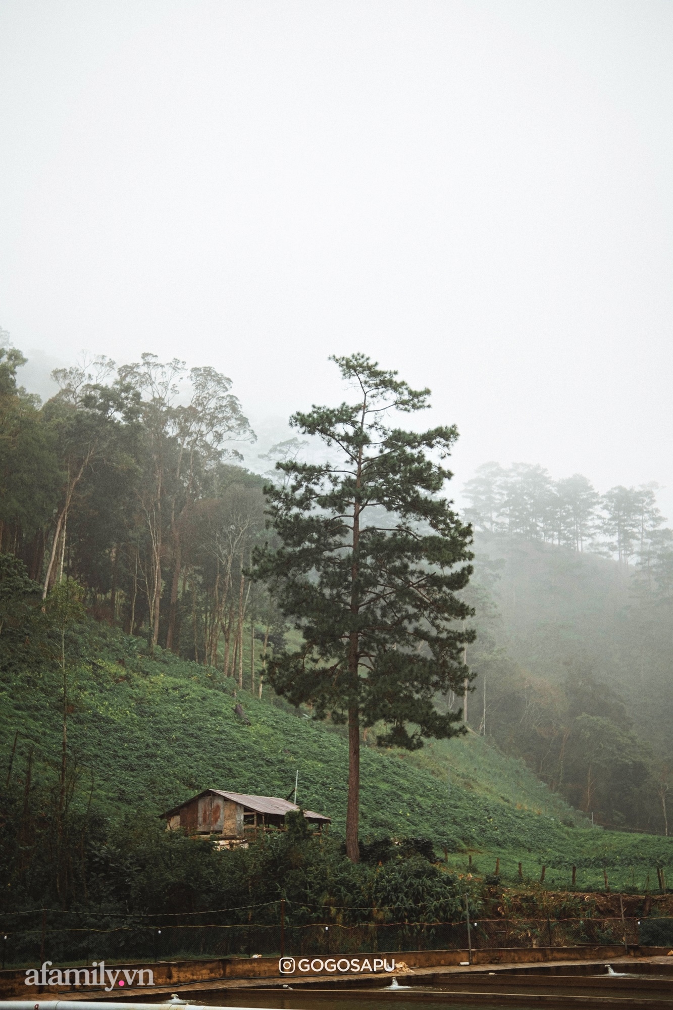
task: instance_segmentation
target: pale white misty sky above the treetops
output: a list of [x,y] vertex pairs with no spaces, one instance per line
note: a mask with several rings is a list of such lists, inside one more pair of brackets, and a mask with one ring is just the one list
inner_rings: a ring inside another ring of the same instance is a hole
[[82,348],[212,365],[263,440],[363,350],[457,487],[673,520],[672,124],[670,0],[2,0],[0,325],[42,394]]

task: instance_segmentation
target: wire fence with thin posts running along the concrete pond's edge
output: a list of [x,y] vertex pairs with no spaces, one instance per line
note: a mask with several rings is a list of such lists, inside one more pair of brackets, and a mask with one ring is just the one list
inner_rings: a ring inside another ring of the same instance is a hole
[[246,923],[159,917],[77,917],[67,926],[0,917],[2,967],[89,964],[91,961],[159,962],[253,954],[349,954],[377,951],[496,949],[608,945],[673,945],[673,918],[465,919],[454,922]]

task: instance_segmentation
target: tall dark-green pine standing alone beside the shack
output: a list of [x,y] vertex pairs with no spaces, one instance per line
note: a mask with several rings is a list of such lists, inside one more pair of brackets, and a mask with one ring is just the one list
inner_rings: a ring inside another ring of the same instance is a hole
[[280,546],[258,551],[256,575],[303,636],[296,651],[273,656],[273,687],[311,703],[317,718],[348,723],[346,843],[358,862],[361,728],[379,723],[380,744],[408,749],[464,731],[461,713],[440,713],[436,699],[464,694],[470,677],[472,611],[457,594],[472,571],[471,528],[443,496],[456,428],[393,426],[391,415],[427,408],[429,390],[364,355],[332,361],[353,398],[290,423],[334,458],[277,463],[286,480],[267,493]]

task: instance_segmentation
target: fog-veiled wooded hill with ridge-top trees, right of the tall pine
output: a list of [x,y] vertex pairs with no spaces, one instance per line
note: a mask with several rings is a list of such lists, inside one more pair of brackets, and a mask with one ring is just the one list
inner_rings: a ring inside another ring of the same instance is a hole
[[[469,483],[470,724],[603,823],[668,832],[673,552],[654,489],[491,464]],[[486,705],[484,708],[484,687]]]

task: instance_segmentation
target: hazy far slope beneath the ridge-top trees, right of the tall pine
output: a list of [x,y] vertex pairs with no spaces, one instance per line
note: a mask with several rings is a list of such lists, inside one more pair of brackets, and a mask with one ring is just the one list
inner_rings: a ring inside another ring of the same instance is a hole
[[[539,541],[476,539],[470,724],[575,808],[664,833],[673,786],[668,613],[642,573]],[[461,703],[462,704],[462,703]]]

